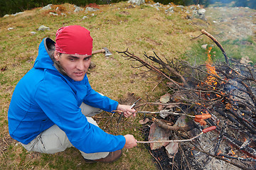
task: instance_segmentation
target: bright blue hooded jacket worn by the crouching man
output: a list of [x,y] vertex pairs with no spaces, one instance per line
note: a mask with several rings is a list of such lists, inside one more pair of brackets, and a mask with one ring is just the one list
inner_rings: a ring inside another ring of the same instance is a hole
[[11,137],[26,145],[55,124],[82,152],[122,149],[124,136],[107,134],[88,123],[80,109],[84,102],[110,112],[116,110],[117,101],[94,91],[86,75],[82,81],[74,81],[60,74],[48,55],[50,43],[55,42],[43,39],[33,68],[16,85],[8,112]]

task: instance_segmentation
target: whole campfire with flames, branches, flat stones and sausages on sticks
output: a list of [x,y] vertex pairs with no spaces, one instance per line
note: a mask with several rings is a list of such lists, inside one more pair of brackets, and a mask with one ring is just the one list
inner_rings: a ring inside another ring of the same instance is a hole
[[[256,168],[256,70],[228,59],[218,40],[202,30],[223,52],[225,62],[208,60],[192,66],[162,60],[156,53],[144,59],[119,52],[159,74],[169,92],[156,103],[140,103],[143,133],[160,169]],[[158,106],[158,112],[144,106]]]

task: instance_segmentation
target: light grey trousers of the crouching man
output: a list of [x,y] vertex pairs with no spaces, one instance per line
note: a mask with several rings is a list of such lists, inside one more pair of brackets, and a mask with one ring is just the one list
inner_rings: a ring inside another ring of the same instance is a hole
[[[97,113],[102,112],[100,108],[94,108],[92,106],[88,106],[85,103],[82,103],[80,106],[82,114],[84,114],[89,123],[93,125],[97,125],[95,120],[90,118]],[[98,126],[98,125],[97,125]],[[28,145],[21,144],[25,149],[28,151],[34,152],[41,152],[46,154],[54,154],[57,152],[63,152],[68,147],[73,147],[71,142],[68,140],[67,135],[63,130],[60,130],[57,125],[53,125],[52,127],[48,128],[41,132],[35,139],[28,143]],[[98,152],[93,154],[86,154],[85,152],[80,151],[82,157],[85,159],[100,159],[107,157],[109,152]]]

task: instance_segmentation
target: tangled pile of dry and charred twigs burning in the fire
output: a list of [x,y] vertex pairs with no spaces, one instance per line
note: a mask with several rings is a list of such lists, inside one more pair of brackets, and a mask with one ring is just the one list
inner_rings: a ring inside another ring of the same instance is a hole
[[[216,126],[217,142],[210,152],[196,147],[196,143],[193,143],[194,149],[210,157],[229,162],[240,169],[250,169],[253,166],[250,163],[256,161],[255,67],[241,64],[236,60],[228,60],[220,43],[206,30],[202,30],[202,34],[207,35],[220,47],[225,56],[225,63],[192,66],[180,60],[174,62],[165,59],[164,61],[156,53],[154,56],[144,53],[144,59],[128,50],[119,53],[128,60],[139,62],[137,67],[146,67],[165,79],[164,82],[169,86],[169,94],[171,94],[170,101],[150,104],[161,105],[163,110],[170,114],[195,116],[208,113],[211,115],[211,118],[206,119],[206,123],[194,123],[193,128],[202,130],[205,126]],[[145,104],[147,103],[142,105]],[[164,121],[158,121],[159,124],[164,123]],[[223,141],[238,149],[240,153],[225,154],[220,150]],[[191,145],[186,146],[191,147]]]

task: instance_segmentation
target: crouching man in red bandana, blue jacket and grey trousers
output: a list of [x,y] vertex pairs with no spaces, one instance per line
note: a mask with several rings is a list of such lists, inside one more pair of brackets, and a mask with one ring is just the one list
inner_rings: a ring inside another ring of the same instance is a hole
[[80,150],[85,162],[113,162],[122,148],[137,146],[133,135],[110,135],[90,118],[100,111],[121,110],[121,105],[94,91],[87,79],[92,38],[82,26],[66,26],[55,42],[39,45],[33,68],[18,82],[9,106],[9,133],[28,151],[53,154],[68,147]]

